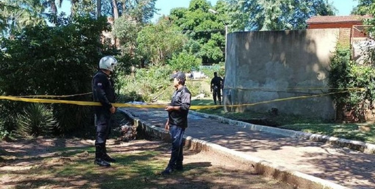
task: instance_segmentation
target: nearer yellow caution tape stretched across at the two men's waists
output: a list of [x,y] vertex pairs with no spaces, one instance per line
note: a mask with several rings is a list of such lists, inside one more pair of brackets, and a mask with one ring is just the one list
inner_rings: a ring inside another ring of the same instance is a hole
[[[353,90],[361,90],[361,89],[353,89]],[[279,102],[279,101],[288,101],[293,99],[305,99],[305,98],[314,98],[326,95],[334,95],[339,93],[347,93],[351,90],[341,91],[341,92],[333,92],[333,93],[323,93],[319,95],[309,95],[309,96],[295,96],[289,98],[280,98],[274,99],[270,101],[263,101],[263,102],[256,102],[251,104],[237,104],[237,105],[225,105],[226,107],[242,107],[242,106],[254,106],[258,104],[266,104],[270,102]],[[9,101],[23,101],[23,102],[33,102],[33,103],[58,103],[58,104],[74,104],[74,105],[82,105],[82,106],[101,106],[99,102],[88,102],[88,101],[65,101],[65,100],[54,100],[54,99],[32,99],[32,98],[22,98],[22,97],[14,97],[14,96],[0,96],[0,99],[9,100]],[[114,107],[132,107],[132,108],[165,108],[166,105],[140,105],[140,104],[124,104],[124,103],[113,103]],[[191,106],[190,110],[200,110],[200,109],[211,109],[211,108],[221,108],[224,105],[198,105],[198,106]]]

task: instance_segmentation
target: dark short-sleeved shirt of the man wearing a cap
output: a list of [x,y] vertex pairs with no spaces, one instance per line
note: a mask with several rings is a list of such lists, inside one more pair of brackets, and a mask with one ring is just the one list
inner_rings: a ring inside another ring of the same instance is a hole
[[173,93],[170,105],[179,106],[180,110],[170,111],[168,113],[170,126],[175,125],[183,128],[187,127],[187,114],[189,113],[190,101],[191,93],[185,86]]

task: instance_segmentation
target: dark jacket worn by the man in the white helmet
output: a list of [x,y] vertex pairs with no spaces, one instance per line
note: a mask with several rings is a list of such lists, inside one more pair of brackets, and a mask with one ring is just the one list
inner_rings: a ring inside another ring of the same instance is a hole
[[114,103],[115,91],[113,83],[110,81],[109,75],[102,71],[95,74],[92,80],[92,91],[94,102],[100,102],[101,107],[95,107],[96,113],[108,113],[112,107],[111,103]]

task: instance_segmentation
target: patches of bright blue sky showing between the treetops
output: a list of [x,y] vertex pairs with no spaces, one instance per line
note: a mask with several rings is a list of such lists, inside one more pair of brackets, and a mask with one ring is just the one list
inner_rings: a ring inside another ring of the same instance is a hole
[[[215,5],[217,0],[208,0],[211,5]],[[357,0],[329,0],[338,9],[336,15],[349,15],[353,7],[357,6]],[[160,9],[158,11],[159,15],[154,15],[151,21],[156,21],[161,15],[168,15],[169,11],[176,7],[188,7],[190,0],[157,0],[156,8]],[[70,1],[65,0],[62,3],[62,7],[58,9],[59,12],[65,12],[70,14]]]

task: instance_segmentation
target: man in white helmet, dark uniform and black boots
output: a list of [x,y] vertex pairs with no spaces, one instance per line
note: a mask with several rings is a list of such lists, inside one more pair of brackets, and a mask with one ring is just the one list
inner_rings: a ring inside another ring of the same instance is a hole
[[115,102],[115,92],[113,83],[110,80],[110,74],[117,65],[117,60],[113,56],[105,56],[99,62],[99,71],[92,80],[93,99],[100,102],[102,106],[95,107],[95,161],[99,166],[110,166],[108,162],[114,162],[107,154],[105,143],[111,132],[111,114],[114,114],[116,108],[112,106]]

